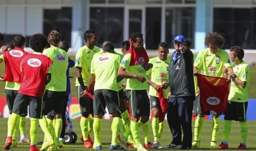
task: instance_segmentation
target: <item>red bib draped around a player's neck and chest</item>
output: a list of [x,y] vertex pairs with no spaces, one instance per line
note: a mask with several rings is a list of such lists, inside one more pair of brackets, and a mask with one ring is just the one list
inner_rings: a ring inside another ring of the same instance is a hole
[[129,42],[130,42],[130,49],[126,52],[126,54],[130,53],[130,57],[131,57],[130,66],[140,65],[142,63],[149,62],[149,56],[146,53],[145,48],[143,47],[142,50],[137,51],[133,47],[131,39],[129,39]]

